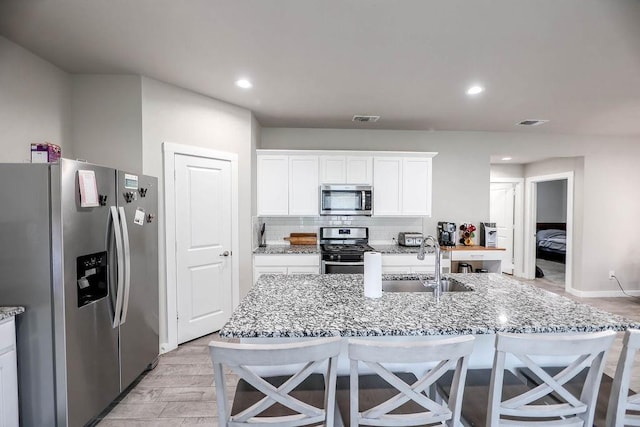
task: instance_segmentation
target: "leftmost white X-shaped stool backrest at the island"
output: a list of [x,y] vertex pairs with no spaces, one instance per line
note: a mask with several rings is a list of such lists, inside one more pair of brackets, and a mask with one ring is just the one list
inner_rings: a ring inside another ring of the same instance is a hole
[[[286,344],[244,344],[212,341],[209,343],[216,385],[218,418],[221,425],[301,426],[326,423],[332,426],[335,407],[336,364],[340,337],[321,338]],[[302,367],[300,367],[302,364]],[[284,384],[275,387],[261,377],[256,367],[298,365],[298,370]],[[238,414],[231,415],[227,399],[224,367],[245,380],[264,398]],[[318,408],[289,393],[314,372],[325,369],[324,408]],[[265,409],[280,403],[295,412],[281,417],[259,417]]]

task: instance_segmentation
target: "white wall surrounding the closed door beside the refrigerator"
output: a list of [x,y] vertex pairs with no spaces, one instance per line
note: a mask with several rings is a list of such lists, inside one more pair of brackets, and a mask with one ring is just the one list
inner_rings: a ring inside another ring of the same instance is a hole
[[[258,129],[249,110],[142,78],[143,173],[157,176],[162,195],[162,143],[205,147],[238,155],[240,295],[252,285],[252,133]],[[256,140],[257,141],[257,140]],[[254,141],[255,143],[255,141]],[[164,223],[164,199],[160,197],[160,224]],[[164,230],[160,230],[160,253],[164,253]],[[235,255],[234,255],[235,256]],[[161,261],[163,258],[161,257]],[[164,262],[161,262],[160,300],[166,304]],[[163,310],[160,310],[161,317]],[[166,312],[166,310],[165,310]],[[166,342],[167,319],[161,318],[160,341]]]

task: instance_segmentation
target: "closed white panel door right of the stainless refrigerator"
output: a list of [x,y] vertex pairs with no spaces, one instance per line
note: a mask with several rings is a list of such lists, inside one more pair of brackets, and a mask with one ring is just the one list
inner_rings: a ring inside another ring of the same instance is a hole
[[175,155],[178,343],[232,312],[231,162]]

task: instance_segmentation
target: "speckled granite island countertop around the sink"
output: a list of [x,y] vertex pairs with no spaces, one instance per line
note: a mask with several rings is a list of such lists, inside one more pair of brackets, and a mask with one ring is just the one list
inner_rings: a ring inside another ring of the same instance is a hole
[[382,298],[369,299],[363,295],[359,274],[265,274],[220,336],[426,336],[640,327],[640,323],[499,274],[446,276],[473,291],[444,293],[439,303],[430,292],[384,292]]

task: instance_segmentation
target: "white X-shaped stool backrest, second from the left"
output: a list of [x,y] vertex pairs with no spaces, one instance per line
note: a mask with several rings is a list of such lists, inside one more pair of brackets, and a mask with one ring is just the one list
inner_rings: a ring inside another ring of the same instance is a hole
[[[406,426],[440,422],[458,425],[468,358],[473,351],[473,343],[472,336],[408,342],[350,339],[349,407],[351,425]],[[427,370],[414,384],[405,383],[383,365],[383,363],[429,362],[433,362],[435,366]],[[398,394],[373,408],[359,412],[359,363],[369,367],[393,386]],[[443,406],[425,394],[424,391],[434,385],[450,369],[455,369],[451,397],[448,406]],[[410,414],[390,414],[391,411],[410,400],[418,404],[424,411]]]

